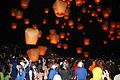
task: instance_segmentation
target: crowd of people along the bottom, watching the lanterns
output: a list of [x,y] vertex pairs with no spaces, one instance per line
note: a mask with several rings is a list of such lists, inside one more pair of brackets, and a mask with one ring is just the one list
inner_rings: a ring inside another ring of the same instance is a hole
[[0,54],[0,80],[120,80],[120,59]]

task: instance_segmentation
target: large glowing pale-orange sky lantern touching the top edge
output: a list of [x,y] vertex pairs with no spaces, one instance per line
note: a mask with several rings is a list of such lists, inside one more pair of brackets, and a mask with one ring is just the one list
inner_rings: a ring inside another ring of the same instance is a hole
[[66,8],[67,8],[67,3],[65,1],[56,0],[53,3],[53,10],[57,17],[63,17],[65,15]]

